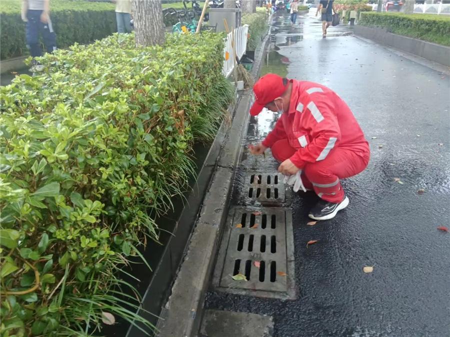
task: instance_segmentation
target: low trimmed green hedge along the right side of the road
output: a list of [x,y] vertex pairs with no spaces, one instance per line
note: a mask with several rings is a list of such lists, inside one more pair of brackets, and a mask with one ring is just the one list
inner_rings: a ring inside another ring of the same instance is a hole
[[450,46],[450,17],[433,14],[361,13],[359,24]]

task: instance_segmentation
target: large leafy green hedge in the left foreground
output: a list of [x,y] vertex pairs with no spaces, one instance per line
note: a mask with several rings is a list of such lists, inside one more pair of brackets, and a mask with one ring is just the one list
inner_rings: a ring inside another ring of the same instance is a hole
[[98,335],[112,316],[136,318],[117,271],[158,240],[193,142],[215,136],[233,98],[222,57],[222,34],[147,48],[113,34],[0,87],[2,337]]

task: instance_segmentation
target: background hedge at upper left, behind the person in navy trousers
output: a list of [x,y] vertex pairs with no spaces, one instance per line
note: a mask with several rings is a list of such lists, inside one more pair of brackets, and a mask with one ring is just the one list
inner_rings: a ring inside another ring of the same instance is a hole
[[[28,54],[20,5],[19,0],[1,1],[1,59]],[[68,47],[75,42],[90,43],[117,31],[112,3],[52,0],[50,18],[58,48]]]

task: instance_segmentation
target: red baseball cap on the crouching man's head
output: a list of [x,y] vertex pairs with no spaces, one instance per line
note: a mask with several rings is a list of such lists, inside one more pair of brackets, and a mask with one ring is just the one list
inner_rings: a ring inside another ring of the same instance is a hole
[[280,97],[287,89],[283,78],[276,74],[266,74],[259,78],[253,85],[254,103],[250,108],[250,115],[256,116],[262,108],[277,97]]

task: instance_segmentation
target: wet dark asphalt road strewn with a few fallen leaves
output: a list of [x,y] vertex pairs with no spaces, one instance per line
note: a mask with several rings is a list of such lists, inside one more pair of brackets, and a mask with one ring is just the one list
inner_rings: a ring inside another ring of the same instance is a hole
[[[296,300],[211,291],[205,307],[273,316],[277,337],[450,336],[450,233],[436,229],[450,227],[448,75],[344,36],[345,27],[322,39],[313,18],[300,17],[294,28],[287,16],[273,20],[262,72],[336,91],[359,121],[371,159],[343,181],[350,205],[333,220],[306,226],[317,199],[293,196]],[[247,141],[262,139],[274,120],[270,113],[251,119]],[[272,158],[244,155],[240,169],[252,166],[277,167]],[[306,248],[309,240],[318,243]]]

